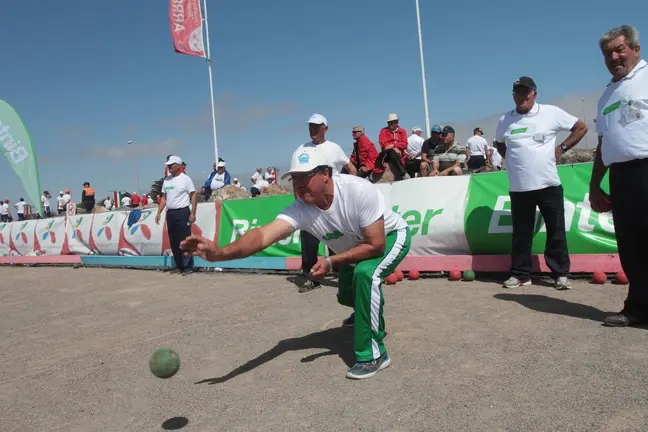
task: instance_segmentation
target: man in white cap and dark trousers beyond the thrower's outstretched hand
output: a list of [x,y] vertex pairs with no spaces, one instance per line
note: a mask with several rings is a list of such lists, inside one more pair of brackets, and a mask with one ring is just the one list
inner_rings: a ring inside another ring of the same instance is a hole
[[155,223],[160,224],[160,216],[166,207],[169,243],[176,264],[172,273],[186,276],[194,272],[194,262],[193,257],[182,253],[180,242],[191,235],[191,224],[196,222],[196,188],[191,178],[182,172],[182,159],[171,156],[164,164],[169,168],[169,176],[162,183],[162,199]]

